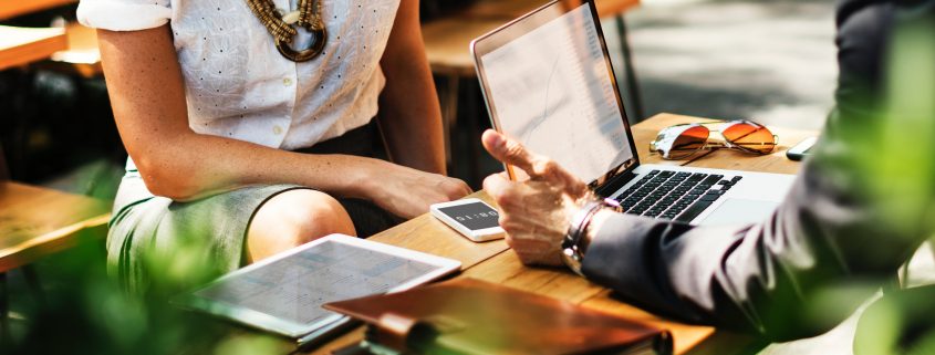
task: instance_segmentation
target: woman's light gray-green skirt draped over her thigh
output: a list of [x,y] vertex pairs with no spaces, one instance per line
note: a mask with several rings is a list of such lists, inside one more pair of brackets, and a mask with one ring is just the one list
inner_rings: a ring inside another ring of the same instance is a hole
[[[114,201],[107,232],[108,273],[128,292],[142,292],[154,272],[159,278],[180,253],[198,253],[196,273],[225,273],[242,264],[247,229],[253,215],[273,196],[299,186],[246,187],[191,202],[149,194],[139,173],[128,170]],[[204,270],[201,268],[212,270]],[[186,279],[186,278],[181,278]],[[194,278],[195,282],[200,281]],[[184,283],[185,281],[179,282]],[[185,286],[185,285],[179,285]]]

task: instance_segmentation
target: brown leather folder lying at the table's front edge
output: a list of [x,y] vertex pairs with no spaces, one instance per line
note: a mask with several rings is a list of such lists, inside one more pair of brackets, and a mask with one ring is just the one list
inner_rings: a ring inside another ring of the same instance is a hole
[[468,278],[324,307],[367,323],[375,353],[672,354],[667,331]]

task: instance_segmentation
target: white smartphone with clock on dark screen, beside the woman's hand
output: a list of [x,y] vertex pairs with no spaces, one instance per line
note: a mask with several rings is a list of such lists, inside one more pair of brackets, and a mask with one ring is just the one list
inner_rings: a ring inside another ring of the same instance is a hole
[[457,230],[461,236],[480,242],[503,238],[500,213],[476,198],[432,205],[432,216]]

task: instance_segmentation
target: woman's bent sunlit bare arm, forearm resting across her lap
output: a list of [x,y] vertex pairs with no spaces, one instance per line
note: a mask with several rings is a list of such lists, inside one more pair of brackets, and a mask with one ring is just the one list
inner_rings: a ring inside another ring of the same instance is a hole
[[[97,33],[121,138],[155,195],[191,200],[252,184],[297,184],[370,199],[398,216],[413,217],[425,212],[423,205],[465,192],[447,178],[377,159],[297,154],[196,134],[188,127],[181,70],[168,25]],[[433,189],[409,188],[405,195],[393,190],[409,185]]]

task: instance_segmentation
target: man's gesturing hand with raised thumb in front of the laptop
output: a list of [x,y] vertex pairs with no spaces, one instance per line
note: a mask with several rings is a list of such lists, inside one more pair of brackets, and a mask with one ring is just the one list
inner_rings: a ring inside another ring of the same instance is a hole
[[526,181],[510,181],[505,173],[484,180],[484,189],[500,205],[507,243],[524,264],[561,265],[569,220],[592,197],[588,186],[554,160],[495,130],[485,132],[481,140],[494,158],[529,175]]

